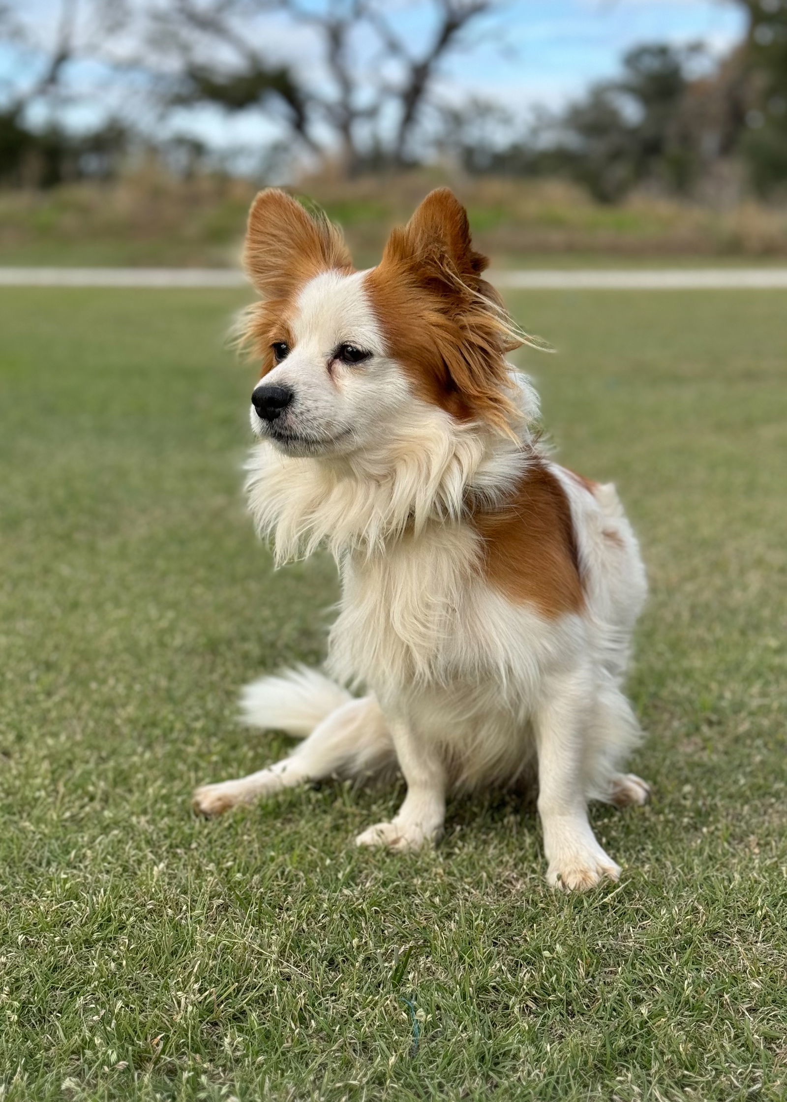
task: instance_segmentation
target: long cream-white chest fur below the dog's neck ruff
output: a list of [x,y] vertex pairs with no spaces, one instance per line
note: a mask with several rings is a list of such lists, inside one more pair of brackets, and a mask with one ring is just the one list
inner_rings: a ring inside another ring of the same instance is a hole
[[478,566],[479,539],[465,523],[430,525],[384,553],[347,557],[331,670],[384,702],[439,690],[485,700],[492,690],[498,705],[527,710],[543,674],[574,651],[581,625],[511,604]]

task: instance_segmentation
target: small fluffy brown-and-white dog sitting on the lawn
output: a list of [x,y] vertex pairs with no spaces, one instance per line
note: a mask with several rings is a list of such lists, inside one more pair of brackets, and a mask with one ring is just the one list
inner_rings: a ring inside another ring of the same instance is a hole
[[614,488],[539,447],[537,396],[505,358],[527,338],[482,278],[464,208],[432,192],[356,271],[334,226],[267,190],[245,264],[261,295],[244,325],[262,359],[250,509],[279,563],[319,545],[336,559],[335,680],[250,684],[248,722],[304,741],[200,788],[195,808],[398,768],[401,808],[357,843],[411,850],[440,835],[449,790],[537,773],[549,883],[615,879],[587,801],[648,796],[621,771],[645,572]]

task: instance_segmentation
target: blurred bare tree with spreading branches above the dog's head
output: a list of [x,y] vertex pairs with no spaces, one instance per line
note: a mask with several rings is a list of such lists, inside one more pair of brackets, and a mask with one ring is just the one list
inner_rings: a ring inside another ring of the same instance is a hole
[[[414,8],[414,6],[411,6]],[[413,136],[444,60],[466,43],[471,24],[499,0],[429,0],[425,43],[410,41],[385,0],[170,0],[149,13],[148,42],[174,63],[172,101],[212,102],[227,111],[261,109],[312,153],[338,153],[347,173],[370,151],[397,164]],[[312,69],[278,61],[266,17],[283,20],[314,47]]]

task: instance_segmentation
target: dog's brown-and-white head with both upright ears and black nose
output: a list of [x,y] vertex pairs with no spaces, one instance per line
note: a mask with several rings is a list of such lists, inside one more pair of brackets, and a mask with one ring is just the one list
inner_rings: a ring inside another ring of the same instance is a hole
[[368,271],[353,268],[336,227],[268,188],[244,260],[261,295],[246,332],[262,359],[251,424],[282,452],[351,455],[434,417],[515,432],[505,354],[521,339],[448,188],[392,231]]

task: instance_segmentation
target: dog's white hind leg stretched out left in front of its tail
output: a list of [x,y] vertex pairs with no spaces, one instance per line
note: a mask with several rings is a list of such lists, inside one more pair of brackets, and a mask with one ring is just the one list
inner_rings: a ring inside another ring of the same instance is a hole
[[276,765],[248,777],[197,788],[194,810],[204,815],[219,815],[238,803],[252,803],[284,788],[333,776],[370,776],[395,763],[394,743],[375,698],[351,699]]

